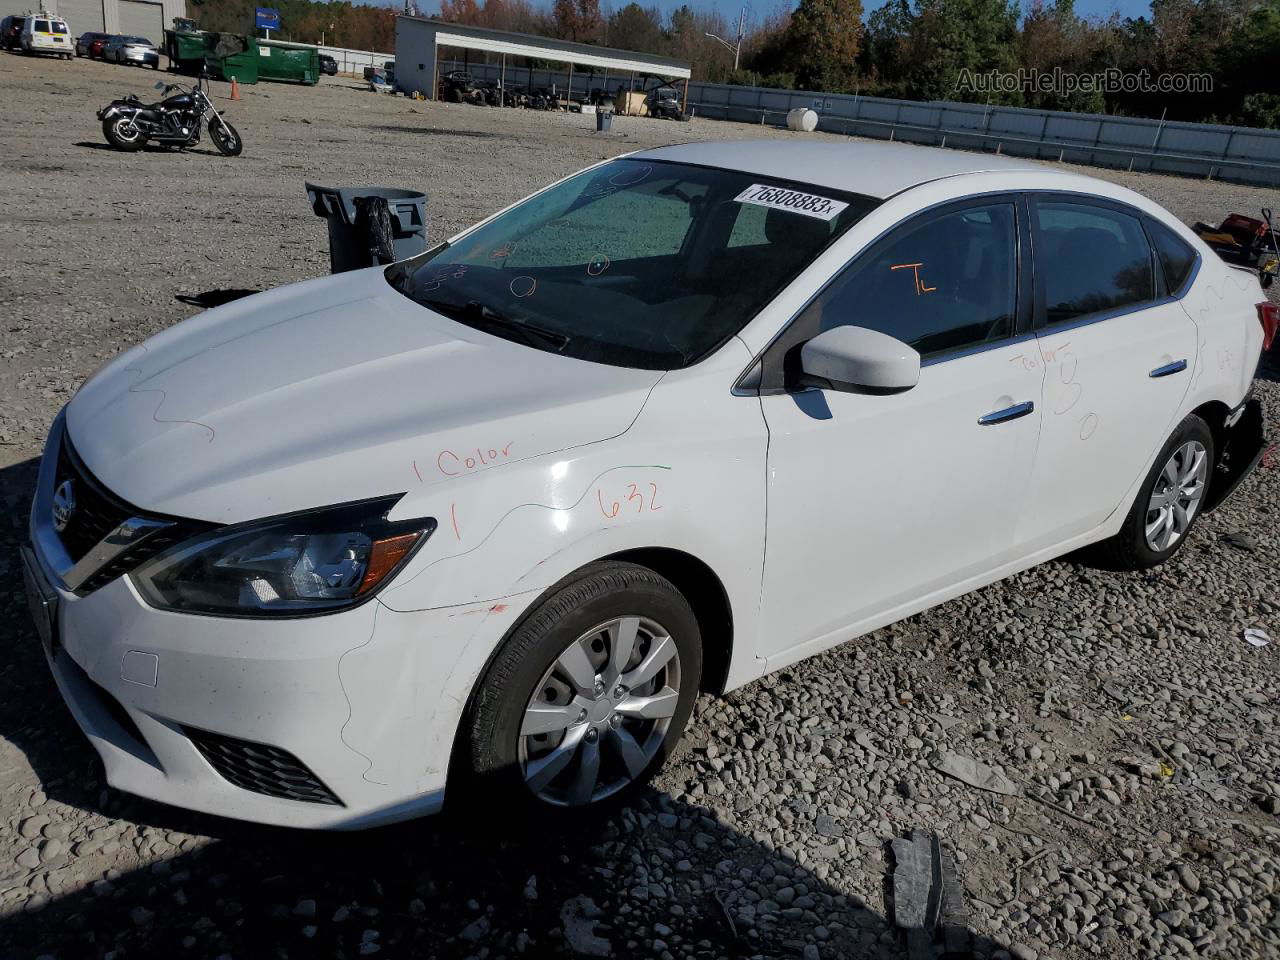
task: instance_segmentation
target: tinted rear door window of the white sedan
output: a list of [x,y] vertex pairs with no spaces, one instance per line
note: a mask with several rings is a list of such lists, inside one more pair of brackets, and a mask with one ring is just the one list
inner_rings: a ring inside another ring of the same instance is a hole
[[1088,204],[1037,201],[1036,223],[1047,324],[1155,297],[1151,247],[1138,218]]

